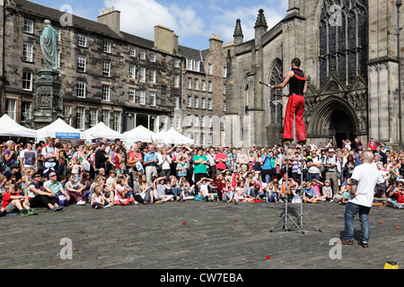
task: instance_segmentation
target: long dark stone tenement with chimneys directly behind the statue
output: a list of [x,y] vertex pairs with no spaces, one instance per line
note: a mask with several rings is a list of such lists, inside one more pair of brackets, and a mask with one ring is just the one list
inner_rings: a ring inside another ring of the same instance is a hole
[[97,22],[70,14],[63,26],[66,13],[23,0],[3,4],[2,113],[24,123],[44,67],[40,33],[48,19],[59,33],[58,71],[71,126],[84,130],[102,121],[119,132],[138,125],[156,130],[172,117],[172,83],[181,61],[173,45],[158,49],[154,41],[121,32],[119,11],[104,11]]

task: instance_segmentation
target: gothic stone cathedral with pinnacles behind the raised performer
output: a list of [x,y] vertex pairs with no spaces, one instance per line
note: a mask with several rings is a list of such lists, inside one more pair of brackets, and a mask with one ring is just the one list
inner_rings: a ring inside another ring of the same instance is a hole
[[227,53],[226,145],[281,142],[288,88],[272,91],[259,81],[282,83],[298,57],[308,78],[307,143],[338,147],[357,137],[397,148],[398,39],[404,52],[397,11],[396,0],[289,0],[287,15],[270,30],[270,15],[259,10],[254,39],[243,39],[237,19]]

